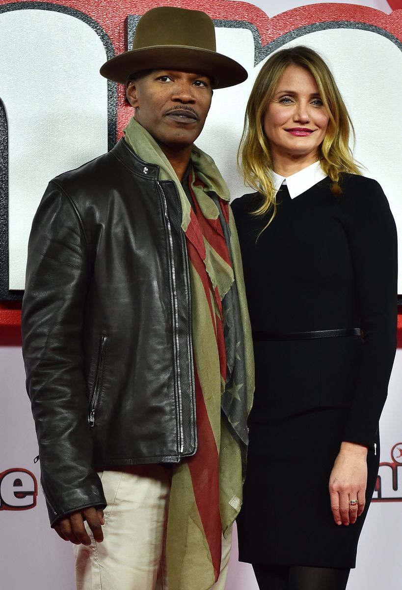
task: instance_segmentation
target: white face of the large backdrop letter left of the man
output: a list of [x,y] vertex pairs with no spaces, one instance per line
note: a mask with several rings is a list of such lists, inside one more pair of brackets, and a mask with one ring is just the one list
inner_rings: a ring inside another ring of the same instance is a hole
[[[47,182],[107,151],[107,81],[85,57],[100,64],[107,58],[91,28],[60,12],[6,12],[0,30],[0,54],[11,55],[0,68],[9,130],[9,287],[24,289],[27,229]],[[43,43],[48,31],[49,45]],[[29,89],[28,121],[22,80]],[[88,100],[91,94],[97,100]]]

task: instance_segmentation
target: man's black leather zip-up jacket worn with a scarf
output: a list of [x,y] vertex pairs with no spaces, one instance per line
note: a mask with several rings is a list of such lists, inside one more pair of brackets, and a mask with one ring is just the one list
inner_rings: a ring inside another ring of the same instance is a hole
[[158,172],[120,140],[34,218],[22,336],[51,523],[106,504],[97,470],[197,448],[182,209]]

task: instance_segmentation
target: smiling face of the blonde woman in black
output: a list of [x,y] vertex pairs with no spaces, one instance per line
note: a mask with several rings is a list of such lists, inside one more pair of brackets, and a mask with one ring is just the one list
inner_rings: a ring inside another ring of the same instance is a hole
[[263,114],[274,169],[286,160],[301,160],[303,167],[315,162],[328,121],[312,74],[299,65],[288,65]]

